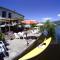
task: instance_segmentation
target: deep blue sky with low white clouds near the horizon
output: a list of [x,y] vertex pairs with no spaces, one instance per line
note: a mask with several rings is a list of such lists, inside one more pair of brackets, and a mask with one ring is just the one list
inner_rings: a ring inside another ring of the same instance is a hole
[[60,19],[60,0],[0,0],[0,6],[25,16],[25,19],[51,21]]

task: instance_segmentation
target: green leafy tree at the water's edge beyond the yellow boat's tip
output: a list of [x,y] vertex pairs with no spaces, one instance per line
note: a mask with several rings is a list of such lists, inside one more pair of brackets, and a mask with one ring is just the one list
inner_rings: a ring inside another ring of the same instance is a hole
[[47,20],[44,23],[44,27],[45,29],[47,29],[49,36],[51,36],[52,39],[55,40],[55,25],[52,22],[50,22],[50,20]]

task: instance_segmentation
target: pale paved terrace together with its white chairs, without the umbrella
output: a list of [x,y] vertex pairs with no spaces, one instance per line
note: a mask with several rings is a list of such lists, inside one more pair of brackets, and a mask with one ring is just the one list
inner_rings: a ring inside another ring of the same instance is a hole
[[[13,32],[9,32],[9,33],[8,33],[9,35],[7,35],[7,36],[10,36],[10,39],[6,40],[6,42],[9,44],[7,46],[7,48],[9,49],[8,50],[9,57],[5,57],[4,58],[5,60],[12,59],[12,58],[16,57],[18,54],[22,53],[31,44],[33,44],[33,42],[36,41],[37,38],[41,35],[41,32],[39,32],[39,33],[38,33],[38,31],[33,32],[33,30],[22,31],[22,32],[18,32],[18,33],[13,33]],[[12,36],[14,38],[11,40]],[[11,54],[12,54],[12,56],[11,56]]]

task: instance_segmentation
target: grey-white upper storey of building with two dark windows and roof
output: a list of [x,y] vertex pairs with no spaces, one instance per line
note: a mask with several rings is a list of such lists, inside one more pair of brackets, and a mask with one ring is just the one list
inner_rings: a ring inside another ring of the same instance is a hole
[[0,17],[2,18],[24,18],[24,16],[16,11],[12,11],[10,9],[0,7]]

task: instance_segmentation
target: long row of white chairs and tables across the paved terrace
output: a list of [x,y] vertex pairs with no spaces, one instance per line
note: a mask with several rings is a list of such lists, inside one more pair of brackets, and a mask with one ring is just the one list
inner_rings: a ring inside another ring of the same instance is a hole
[[28,30],[28,31],[22,31],[22,32],[9,32],[7,34],[7,36],[10,37],[10,39],[27,39],[27,38],[30,38],[30,39],[33,39],[33,37],[35,37],[36,39],[40,36],[40,32],[38,31],[33,31],[33,30]]

